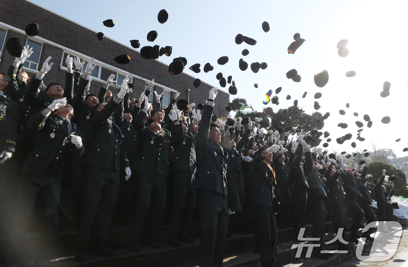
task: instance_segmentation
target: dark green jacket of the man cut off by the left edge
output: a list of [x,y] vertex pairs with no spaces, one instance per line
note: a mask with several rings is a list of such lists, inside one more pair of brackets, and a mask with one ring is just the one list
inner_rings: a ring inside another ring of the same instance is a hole
[[[20,107],[7,95],[0,95],[0,104],[6,106],[6,115],[9,123],[3,134],[0,134],[0,150],[16,151],[17,135],[20,126]],[[1,153],[0,152],[0,153]]]

